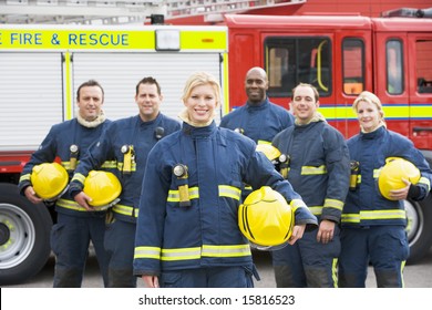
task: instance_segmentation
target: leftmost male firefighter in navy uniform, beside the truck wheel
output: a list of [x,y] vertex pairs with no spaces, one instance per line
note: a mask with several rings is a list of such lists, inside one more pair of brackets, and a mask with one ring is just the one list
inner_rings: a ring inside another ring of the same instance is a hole
[[[31,177],[37,165],[52,163],[59,157],[61,165],[72,177],[76,163],[110,123],[102,112],[103,100],[103,89],[96,81],[91,80],[79,86],[76,118],[52,126],[22,170],[19,188],[30,202],[42,202],[32,184],[40,180]],[[56,224],[51,231],[51,248],[55,255],[53,286],[81,287],[90,241],[94,246],[104,285],[107,286],[107,260],[103,247],[105,211],[81,207],[68,190],[58,199],[51,200],[54,200],[50,203],[55,203],[58,214]]]

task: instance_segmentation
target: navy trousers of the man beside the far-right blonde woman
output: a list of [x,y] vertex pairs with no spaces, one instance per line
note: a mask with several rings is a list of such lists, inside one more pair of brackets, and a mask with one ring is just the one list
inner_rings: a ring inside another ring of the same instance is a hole
[[327,245],[317,242],[317,232],[307,231],[294,246],[271,251],[278,288],[338,287],[339,228],[335,227],[333,240]]

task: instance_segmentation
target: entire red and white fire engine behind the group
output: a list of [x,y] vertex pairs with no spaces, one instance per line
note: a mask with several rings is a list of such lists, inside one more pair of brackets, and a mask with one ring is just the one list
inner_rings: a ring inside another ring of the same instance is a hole
[[[259,65],[268,72],[269,97],[286,108],[297,83],[316,85],[320,112],[347,138],[359,131],[351,104],[368,90],[381,99],[388,127],[412,140],[431,163],[429,14],[225,14],[222,25],[206,27],[0,24],[0,285],[24,281],[48,260],[55,215],[20,196],[16,184],[50,126],[74,116],[83,81],[101,82],[105,113],[115,120],[136,114],[134,86],[153,75],[164,93],[163,112],[175,117],[186,78],[207,71],[223,85],[222,116],[245,103],[246,71]],[[415,262],[432,244],[432,198],[405,206]]]

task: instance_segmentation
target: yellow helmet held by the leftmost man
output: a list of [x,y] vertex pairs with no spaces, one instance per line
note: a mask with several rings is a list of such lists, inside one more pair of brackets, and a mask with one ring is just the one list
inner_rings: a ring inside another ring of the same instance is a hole
[[65,192],[69,175],[58,163],[43,163],[33,167],[30,182],[40,198],[53,200]]

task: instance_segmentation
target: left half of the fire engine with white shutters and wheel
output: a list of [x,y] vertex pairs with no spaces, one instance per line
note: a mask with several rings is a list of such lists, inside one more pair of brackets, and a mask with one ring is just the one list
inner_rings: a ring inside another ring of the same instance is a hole
[[224,81],[227,48],[226,27],[0,25],[0,285],[31,278],[49,258],[55,214],[17,184],[51,125],[74,117],[78,86],[99,81],[116,120],[137,114],[135,85],[154,76],[162,111],[176,117],[193,72]]

